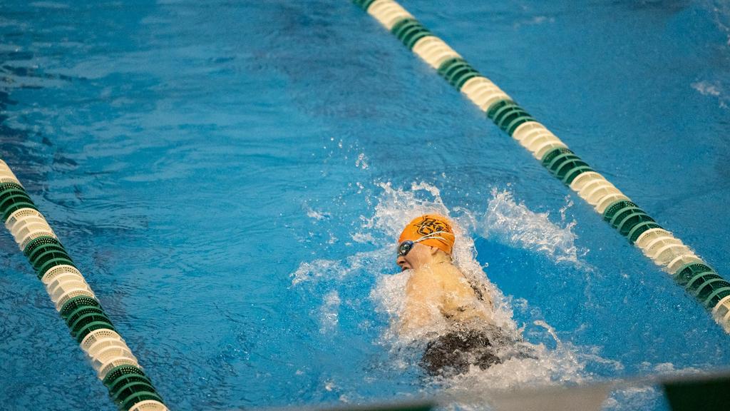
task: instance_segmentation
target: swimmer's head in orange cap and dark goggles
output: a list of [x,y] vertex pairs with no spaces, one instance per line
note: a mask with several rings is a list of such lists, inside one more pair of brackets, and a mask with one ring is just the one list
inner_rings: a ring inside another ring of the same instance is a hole
[[413,219],[401,233],[396,263],[401,269],[418,269],[436,257],[450,258],[456,237],[444,216],[425,214]]

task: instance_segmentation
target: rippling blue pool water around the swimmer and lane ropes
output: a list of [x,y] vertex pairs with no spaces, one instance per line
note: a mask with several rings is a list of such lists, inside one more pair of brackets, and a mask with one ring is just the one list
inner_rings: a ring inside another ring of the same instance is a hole
[[[723,1],[401,4],[730,276]],[[171,409],[730,365],[699,304],[349,1],[0,7],[0,157]],[[420,211],[456,220],[539,360],[434,381],[394,341]],[[9,233],[0,253],[0,403],[113,410]]]

